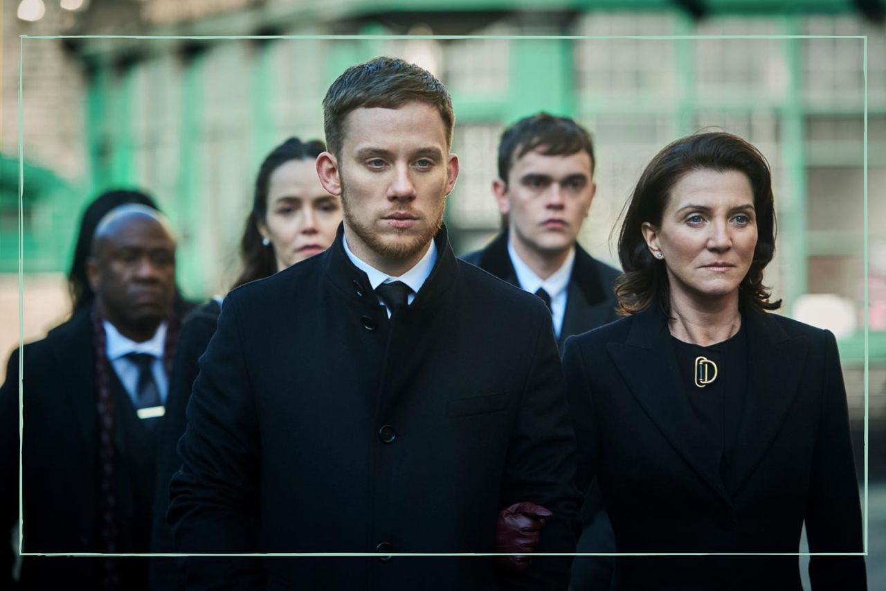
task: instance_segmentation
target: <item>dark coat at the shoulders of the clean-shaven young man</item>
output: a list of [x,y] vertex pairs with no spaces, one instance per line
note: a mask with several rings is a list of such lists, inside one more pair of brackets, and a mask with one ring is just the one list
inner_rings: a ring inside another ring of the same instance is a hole
[[[517,272],[514,271],[508,254],[508,232],[501,232],[486,248],[462,256],[462,260],[520,287]],[[588,255],[584,248],[575,245],[575,263],[566,296],[566,313],[557,340],[561,350],[563,343],[571,335],[579,335],[618,319],[615,313],[617,300],[613,292],[618,275],[618,269],[602,264]]]

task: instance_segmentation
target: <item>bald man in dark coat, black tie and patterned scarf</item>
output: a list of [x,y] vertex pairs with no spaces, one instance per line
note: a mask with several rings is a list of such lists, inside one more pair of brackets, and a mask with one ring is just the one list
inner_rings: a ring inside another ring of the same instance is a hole
[[[22,352],[24,552],[149,551],[154,448],[177,318],[175,239],[156,210],[113,209],[87,261],[94,303]],[[19,516],[19,351],[0,387],[0,532]],[[5,557],[5,553],[3,555]],[[0,586],[10,572],[0,564]],[[25,556],[21,588],[143,589],[142,558]]]

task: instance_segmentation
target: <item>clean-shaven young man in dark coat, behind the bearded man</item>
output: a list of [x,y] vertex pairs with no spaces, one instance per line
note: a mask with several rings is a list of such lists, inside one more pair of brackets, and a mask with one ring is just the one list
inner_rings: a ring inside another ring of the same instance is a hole
[[[464,260],[539,296],[551,313],[557,344],[617,319],[613,283],[618,270],[595,260],[577,241],[594,201],[594,144],[579,123],[547,113],[525,117],[501,134],[493,193],[505,228]],[[527,508],[525,517],[534,514]],[[614,552],[599,489],[582,509],[579,552]],[[576,591],[608,588],[612,560],[576,558]]]

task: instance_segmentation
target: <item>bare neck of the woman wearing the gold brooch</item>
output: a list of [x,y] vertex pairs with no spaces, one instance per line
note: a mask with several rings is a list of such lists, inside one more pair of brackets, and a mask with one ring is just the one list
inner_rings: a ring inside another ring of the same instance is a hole
[[696,302],[671,293],[671,335],[684,343],[708,345],[727,341],[742,327],[738,292],[716,300]]

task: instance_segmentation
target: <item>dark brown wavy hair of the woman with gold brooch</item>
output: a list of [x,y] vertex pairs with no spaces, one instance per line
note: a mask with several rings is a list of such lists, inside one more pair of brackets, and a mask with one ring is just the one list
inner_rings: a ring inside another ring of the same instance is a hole
[[671,189],[693,170],[741,172],[750,181],[757,217],[757,247],[747,275],[739,286],[739,309],[777,310],[781,300],[770,302],[763,285],[763,270],[775,253],[775,209],[772,173],[766,157],[738,136],[716,131],[680,138],[649,162],[622,210],[618,232],[618,260],[624,272],[615,283],[618,313],[623,316],[646,310],[658,302],[671,314],[671,298],[664,261],[649,252],[641,231],[644,222],[658,226]]

